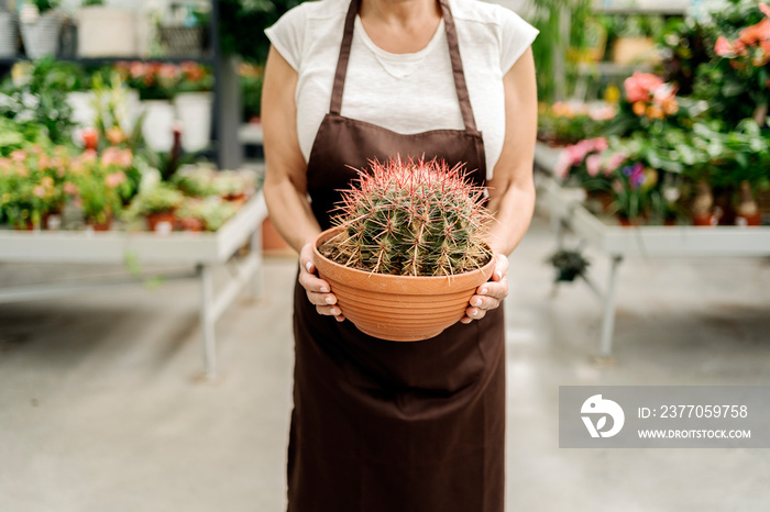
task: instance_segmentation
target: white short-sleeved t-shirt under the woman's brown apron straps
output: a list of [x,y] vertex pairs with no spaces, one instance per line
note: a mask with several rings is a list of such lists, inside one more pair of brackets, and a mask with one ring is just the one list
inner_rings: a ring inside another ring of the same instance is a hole
[[[503,76],[535,41],[538,30],[515,12],[476,0],[449,0],[471,107],[484,138],[487,179],[505,136]],[[329,112],[349,0],[306,2],[265,33],[298,74],[297,133],[305,162]],[[460,103],[443,20],[428,45],[414,54],[376,46],[356,15],[341,115],[402,134],[462,130]]]

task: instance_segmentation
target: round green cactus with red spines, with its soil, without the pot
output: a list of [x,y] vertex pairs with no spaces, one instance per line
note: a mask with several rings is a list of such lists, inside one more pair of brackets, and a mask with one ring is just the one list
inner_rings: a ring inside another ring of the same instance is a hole
[[340,233],[321,248],[346,267],[402,276],[452,276],[483,267],[492,215],[484,188],[443,160],[371,162],[332,218]]

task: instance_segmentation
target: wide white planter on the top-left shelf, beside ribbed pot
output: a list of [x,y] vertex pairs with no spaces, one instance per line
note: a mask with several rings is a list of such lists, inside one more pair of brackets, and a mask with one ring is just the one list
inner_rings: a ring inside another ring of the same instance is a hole
[[112,7],[94,5],[77,12],[80,57],[134,57],[138,55],[136,14]]

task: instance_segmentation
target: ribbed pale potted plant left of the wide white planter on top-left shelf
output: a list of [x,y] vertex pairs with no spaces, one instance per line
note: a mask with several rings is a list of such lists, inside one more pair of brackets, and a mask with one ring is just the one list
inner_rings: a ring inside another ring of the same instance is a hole
[[19,12],[24,51],[30,58],[55,56],[62,32],[59,0],[26,0]]

